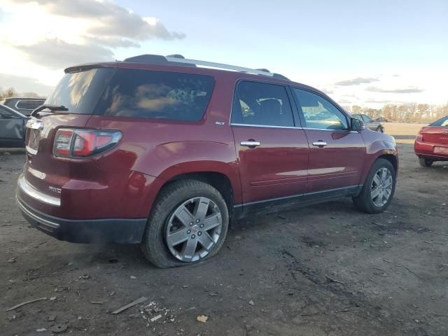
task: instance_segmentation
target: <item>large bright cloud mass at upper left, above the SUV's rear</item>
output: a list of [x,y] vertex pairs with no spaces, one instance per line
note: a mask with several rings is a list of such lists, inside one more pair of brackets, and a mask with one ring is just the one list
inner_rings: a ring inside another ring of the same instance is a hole
[[[0,5],[0,73],[31,78],[30,83],[55,85],[64,67],[113,60],[116,48],[185,38],[158,18],[142,18],[107,0],[0,0]],[[11,86],[6,78],[0,77],[0,86]]]

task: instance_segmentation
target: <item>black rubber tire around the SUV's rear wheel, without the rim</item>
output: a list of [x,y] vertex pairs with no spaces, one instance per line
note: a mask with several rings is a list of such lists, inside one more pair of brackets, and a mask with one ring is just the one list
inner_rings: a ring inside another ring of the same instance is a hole
[[[207,197],[218,206],[222,218],[221,235],[208,255],[197,261],[183,262],[174,258],[174,255],[169,251],[165,241],[165,230],[167,229],[170,216],[179,207],[179,204],[193,197]],[[223,246],[228,227],[228,207],[223,196],[216,188],[197,180],[176,181],[163,188],[155,200],[153,210],[146,223],[141,249],[145,257],[156,267],[167,268],[193,265],[218,253]]]

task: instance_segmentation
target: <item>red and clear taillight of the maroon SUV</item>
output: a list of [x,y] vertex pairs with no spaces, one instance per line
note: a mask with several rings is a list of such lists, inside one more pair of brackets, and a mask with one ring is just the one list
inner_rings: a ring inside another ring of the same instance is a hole
[[85,158],[109,150],[118,144],[122,133],[109,130],[57,130],[53,155],[62,158]]

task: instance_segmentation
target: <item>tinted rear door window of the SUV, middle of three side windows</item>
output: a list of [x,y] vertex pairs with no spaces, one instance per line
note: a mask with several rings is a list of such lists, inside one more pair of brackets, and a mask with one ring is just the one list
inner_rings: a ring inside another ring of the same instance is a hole
[[266,83],[240,82],[235,92],[232,123],[294,126],[286,88]]

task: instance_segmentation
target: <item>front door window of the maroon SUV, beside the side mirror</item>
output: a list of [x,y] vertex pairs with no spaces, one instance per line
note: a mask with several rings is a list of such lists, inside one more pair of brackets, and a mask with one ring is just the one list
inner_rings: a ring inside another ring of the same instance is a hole
[[308,128],[319,130],[346,130],[348,128],[344,113],[327,99],[312,92],[293,89],[302,108]]

